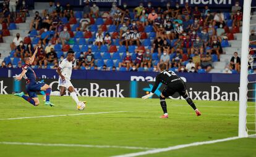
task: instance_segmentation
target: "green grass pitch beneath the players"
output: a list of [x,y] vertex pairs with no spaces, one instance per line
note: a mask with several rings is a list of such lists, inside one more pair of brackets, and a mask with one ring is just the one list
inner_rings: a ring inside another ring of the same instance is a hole
[[[64,143],[92,147],[6,145],[0,156],[115,156],[145,151],[128,148],[96,148],[96,145],[166,148],[193,142],[237,136],[238,102],[195,101],[202,116],[195,116],[185,100],[166,99],[169,118],[161,119],[159,99],[80,97],[87,108],[78,111],[71,97],[51,97],[55,107],[33,107],[22,98],[0,95],[0,142]],[[77,113],[92,115],[29,118]],[[254,113],[254,104],[248,108]],[[254,120],[254,118],[249,118]],[[255,129],[255,128],[253,128]],[[145,156],[256,156],[256,138],[231,140]]]

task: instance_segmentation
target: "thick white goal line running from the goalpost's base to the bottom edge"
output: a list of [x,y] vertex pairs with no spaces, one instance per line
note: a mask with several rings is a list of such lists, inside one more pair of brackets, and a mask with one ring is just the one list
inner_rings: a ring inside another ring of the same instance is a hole
[[184,145],[176,145],[176,146],[171,146],[171,147],[167,147],[167,148],[159,148],[159,149],[155,149],[155,150],[140,151],[138,153],[129,153],[129,154],[125,154],[125,155],[117,155],[117,156],[112,156],[112,157],[133,157],[133,156],[140,156],[140,155],[149,155],[149,154],[161,153],[164,151],[178,150],[178,149],[186,148],[186,147],[193,147],[193,146],[198,146],[198,145],[208,145],[211,143],[218,143],[218,142],[224,142],[224,141],[236,140],[236,139],[239,139],[239,137],[229,137],[226,139],[209,140],[209,141],[204,141],[204,142],[194,142],[194,143],[189,143],[189,144],[184,144]]

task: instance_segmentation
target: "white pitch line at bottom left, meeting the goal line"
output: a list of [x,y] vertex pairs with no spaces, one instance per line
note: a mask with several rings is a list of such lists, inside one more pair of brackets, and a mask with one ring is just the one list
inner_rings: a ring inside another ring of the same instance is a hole
[[157,149],[157,148],[129,147],[129,146],[117,146],[117,145],[82,145],[82,144],[64,144],[64,143],[0,142],[0,144],[2,145],[36,145],[36,146],[48,146],[48,147],[124,148],[124,149],[131,149],[131,150]]

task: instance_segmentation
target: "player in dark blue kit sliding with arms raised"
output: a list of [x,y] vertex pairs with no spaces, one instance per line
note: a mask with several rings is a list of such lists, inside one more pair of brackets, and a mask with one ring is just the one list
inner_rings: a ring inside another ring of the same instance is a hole
[[22,73],[19,74],[15,79],[20,81],[22,77],[26,80],[26,91],[28,96],[24,94],[24,92],[16,93],[15,96],[22,97],[23,99],[27,100],[34,106],[39,105],[39,99],[36,95],[36,92],[45,91],[46,101],[45,105],[49,105],[54,107],[54,104],[49,101],[49,97],[51,94],[51,87],[48,84],[41,83],[40,81],[36,81],[36,74],[33,69],[30,67],[34,62],[36,53],[38,51],[38,47],[35,47],[35,52],[32,57],[24,58],[25,65],[22,66]]

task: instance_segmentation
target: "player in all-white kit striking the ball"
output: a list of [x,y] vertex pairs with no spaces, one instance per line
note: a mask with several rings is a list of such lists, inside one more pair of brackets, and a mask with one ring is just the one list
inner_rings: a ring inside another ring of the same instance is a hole
[[[59,94],[65,95],[66,89],[70,92],[70,96],[75,100],[77,105],[85,102],[80,102],[77,93],[75,92],[74,86],[70,82],[71,74],[72,74],[72,62],[74,60],[74,51],[69,49],[67,52],[67,58],[62,60],[61,64],[57,68],[57,73],[59,74]],[[83,109],[83,108],[82,108]]]

